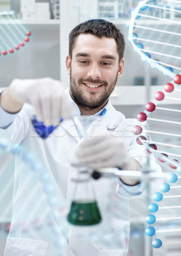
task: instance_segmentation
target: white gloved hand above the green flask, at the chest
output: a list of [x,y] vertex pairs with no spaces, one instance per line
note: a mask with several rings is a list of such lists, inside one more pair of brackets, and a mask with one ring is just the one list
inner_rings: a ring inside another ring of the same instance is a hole
[[86,138],[78,146],[76,155],[80,163],[88,163],[94,170],[107,167],[132,170],[135,164],[126,152],[123,140],[111,134]]

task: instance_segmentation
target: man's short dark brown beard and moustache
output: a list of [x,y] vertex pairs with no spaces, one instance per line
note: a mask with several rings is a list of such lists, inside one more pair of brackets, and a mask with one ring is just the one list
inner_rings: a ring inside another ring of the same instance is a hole
[[[114,90],[115,84],[117,82],[117,77],[112,79],[110,84],[107,83],[107,81],[101,81],[100,79],[96,79],[95,81],[91,78],[88,79],[79,79],[78,83],[76,83],[75,78],[72,76],[72,73],[70,73],[70,93],[73,97],[75,103],[83,108],[84,110],[93,110],[95,108],[99,108],[101,105],[106,103],[108,100],[110,94]],[[99,97],[95,97],[96,92],[89,91],[89,98],[82,93],[82,83],[87,84],[103,84],[104,87],[106,87],[106,90],[103,92],[102,95]]]

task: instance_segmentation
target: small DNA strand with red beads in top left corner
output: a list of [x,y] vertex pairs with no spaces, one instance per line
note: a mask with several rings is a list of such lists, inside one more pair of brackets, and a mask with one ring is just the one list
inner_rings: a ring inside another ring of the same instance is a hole
[[0,23],[0,54],[13,53],[29,42],[31,32],[17,20],[13,11],[0,12]]

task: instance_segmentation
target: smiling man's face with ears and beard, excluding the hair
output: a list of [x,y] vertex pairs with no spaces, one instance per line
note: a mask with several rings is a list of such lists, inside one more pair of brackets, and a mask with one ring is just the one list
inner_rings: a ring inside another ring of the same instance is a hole
[[72,60],[66,59],[70,93],[78,106],[92,110],[106,103],[123,71],[124,60],[118,59],[114,38],[78,36]]

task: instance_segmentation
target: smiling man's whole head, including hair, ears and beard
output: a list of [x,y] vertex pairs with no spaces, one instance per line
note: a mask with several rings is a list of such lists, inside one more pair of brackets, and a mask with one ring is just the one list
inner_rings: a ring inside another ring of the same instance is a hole
[[118,33],[116,38],[111,37],[112,27],[105,21],[97,22],[96,31],[94,26],[93,20],[92,23],[85,22],[69,35],[66,66],[70,75],[70,94],[82,114],[95,114],[106,105],[124,68],[123,35],[114,28]]

